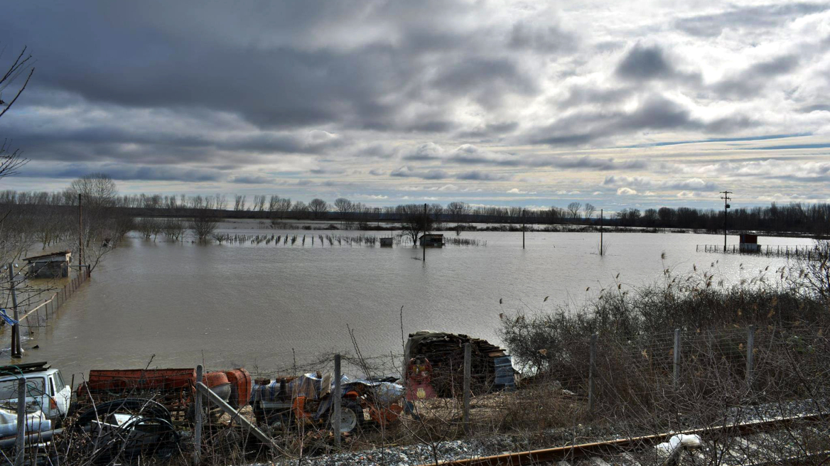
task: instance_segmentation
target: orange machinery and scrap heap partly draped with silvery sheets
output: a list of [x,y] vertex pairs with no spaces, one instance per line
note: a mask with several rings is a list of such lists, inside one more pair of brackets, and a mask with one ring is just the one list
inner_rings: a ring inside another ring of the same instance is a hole
[[[334,377],[304,374],[271,381],[258,379],[251,392],[256,421],[271,428],[289,429],[310,424],[333,427]],[[389,381],[340,379],[340,432],[362,425],[387,425],[403,411],[403,386]]]

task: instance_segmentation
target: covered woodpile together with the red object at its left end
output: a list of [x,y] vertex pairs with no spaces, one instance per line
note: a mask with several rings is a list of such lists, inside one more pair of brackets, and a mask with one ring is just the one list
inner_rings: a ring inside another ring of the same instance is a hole
[[460,396],[464,383],[464,345],[471,343],[471,391],[483,394],[515,389],[510,356],[496,345],[467,335],[443,332],[410,333],[407,399]]

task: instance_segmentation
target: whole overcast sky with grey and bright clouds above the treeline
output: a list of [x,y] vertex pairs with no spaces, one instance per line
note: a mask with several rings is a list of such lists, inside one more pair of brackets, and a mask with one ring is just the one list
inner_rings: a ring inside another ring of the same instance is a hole
[[828,3],[27,0],[0,46],[3,189],[830,201]]

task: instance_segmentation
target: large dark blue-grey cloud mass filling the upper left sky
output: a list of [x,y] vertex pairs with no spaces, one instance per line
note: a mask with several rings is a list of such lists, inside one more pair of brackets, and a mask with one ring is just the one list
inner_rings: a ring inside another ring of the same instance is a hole
[[[48,89],[133,108],[228,111],[262,128],[444,132],[456,126],[446,112],[456,99],[493,109],[537,90],[514,57],[486,49],[491,32],[452,27],[475,12],[462,2],[199,2],[198,14],[178,2],[141,5],[18,3],[8,36],[37,50],[38,85]],[[354,44],[313,43],[338,27]],[[408,112],[417,104],[432,115]]]

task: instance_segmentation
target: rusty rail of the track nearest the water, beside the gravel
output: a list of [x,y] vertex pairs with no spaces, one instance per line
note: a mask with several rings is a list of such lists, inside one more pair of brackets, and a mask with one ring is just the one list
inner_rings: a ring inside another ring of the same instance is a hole
[[[588,444],[566,445],[552,449],[536,449],[507,454],[496,454],[492,456],[481,456],[478,458],[452,459],[438,462],[441,466],[527,466],[543,462],[569,461],[584,458],[592,455],[623,453],[634,449],[641,449],[647,445],[658,444],[671,438],[676,434],[698,434],[706,435],[713,432],[731,434],[749,434],[778,428],[799,421],[822,420],[830,413],[815,415],[798,415],[782,419],[756,420],[735,425],[716,425],[703,427],[682,432],[667,432],[663,434],[642,435],[630,439],[615,439],[603,442],[591,442]],[[425,463],[420,466],[435,466],[436,463]]]

